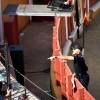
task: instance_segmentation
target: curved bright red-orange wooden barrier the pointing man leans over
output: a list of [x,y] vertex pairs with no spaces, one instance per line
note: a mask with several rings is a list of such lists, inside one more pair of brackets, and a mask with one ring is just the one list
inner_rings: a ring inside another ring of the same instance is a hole
[[[55,26],[53,27],[53,55],[62,55],[60,34],[63,27],[59,27],[61,18],[55,17]],[[60,28],[60,29],[59,29]],[[60,33],[59,33],[60,30]],[[88,91],[75,78],[76,91],[72,85],[72,72],[67,63],[61,59],[54,59],[54,73],[56,76],[56,85],[61,86],[62,97],[68,100],[95,100]]]

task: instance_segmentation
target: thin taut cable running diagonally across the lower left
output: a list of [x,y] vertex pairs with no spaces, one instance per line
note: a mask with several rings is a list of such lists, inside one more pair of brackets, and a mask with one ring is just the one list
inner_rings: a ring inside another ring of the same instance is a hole
[[[1,56],[1,55],[0,55]],[[5,58],[3,57],[3,56],[1,56],[4,60],[5,60]],[[11,64],[9,64],[10,65],[10,67],[12,67],[12,68],[14,68]],[[47,93],[47,92],[45,92],[43,89],[41,89],[39,86],[37,86],[35,83],[33,83],[32,81],[30,81],[27,77],[25,77],[23,74],[21,74],[18,70],[16,70],[15,68],[14,68],[14,70],[16,71],[16,72],[18,72],[21,76],[23,76],[27,81],[29,81],[31,84],[33,84],[35,87],[37,87],[38,89],[40,89],[42,92],[44,92],[45,94],[47,94],[48,96],[50,96],[50,97],[52,97],[53,99],[55,99],[55,100],[58,100],[57,98],[55,98],[55,97],[53,97],[52,95],[50,95],[49,93]]]

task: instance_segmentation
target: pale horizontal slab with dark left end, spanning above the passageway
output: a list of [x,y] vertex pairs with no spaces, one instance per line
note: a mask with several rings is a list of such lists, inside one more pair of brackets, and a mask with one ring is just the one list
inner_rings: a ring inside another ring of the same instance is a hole
[[3,14],[18,16],[71,16],[72,11],[63,12],[57,9],[52,11],[47,5],[9,4]]

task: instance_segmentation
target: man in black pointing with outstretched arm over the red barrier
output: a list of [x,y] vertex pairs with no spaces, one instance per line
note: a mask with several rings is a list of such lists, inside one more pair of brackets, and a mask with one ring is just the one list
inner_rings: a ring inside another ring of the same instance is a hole
[[83,48],[81,46],[75,45],[74,47],[72,47],[72,56],[51,56],[48,59],[50,59],[51,61],[54,58],[73,60],[73,66],[75,70],[73,77],[76,76],[79,82],[87,89],[87,86],[89,84],[89,74],[87,73],[88,67],[85,64],[85,60],[82,56],[82,49]]

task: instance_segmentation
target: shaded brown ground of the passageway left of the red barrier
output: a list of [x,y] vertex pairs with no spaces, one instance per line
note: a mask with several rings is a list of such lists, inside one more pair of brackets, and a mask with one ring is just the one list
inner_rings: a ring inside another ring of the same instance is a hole
[[[52,55],[52,34],[54,22],[33,22],[20,34],[24,51],[25,76],[41,89],[50,91],[50,60]],[[51,100],[34,85],[26,81],[26,87],[41,100]],[[50,92],[49,92],[50,93]]]

